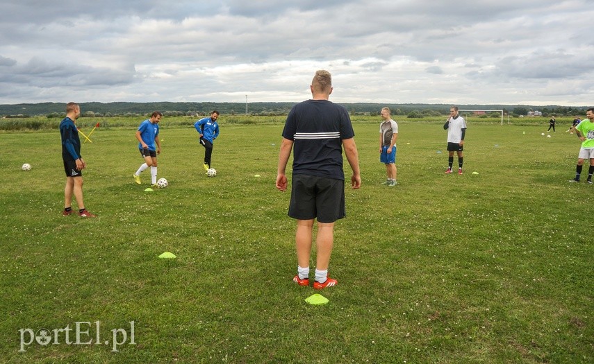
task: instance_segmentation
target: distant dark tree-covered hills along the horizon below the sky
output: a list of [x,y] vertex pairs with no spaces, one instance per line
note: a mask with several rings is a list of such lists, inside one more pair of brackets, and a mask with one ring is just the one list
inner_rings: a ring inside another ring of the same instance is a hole
[[[150,114],[155,110],[176,114],[210,114],[218,110],[222,114],[245,114],[245,103],[81,103],[83,114],[92,112],[101,115],[126,115],[126,114]],[[256,115],[283,115],[287,114],[295,103],[248,103],[249,114]],[[384,104],[384,103],[343,103],[351,114],[379,114],[381,107],[390,107],[393,114],[408,114],[413,110],[431,110],[441,114],[449,113],[449,104]],[[569,114],[586,110],[587,107],[563,107],[559,105],[531,106],[531,105],[458,105],[461,109],[503,109],[513,110],[540,110],[543,112],[554,112],[557,114]],[[24,115],[24,116],[58,116],[65,113],[65,103],[22,103],[14,105],[0,105],[0,116]],[[517,112],[524,114],[523,112]]]

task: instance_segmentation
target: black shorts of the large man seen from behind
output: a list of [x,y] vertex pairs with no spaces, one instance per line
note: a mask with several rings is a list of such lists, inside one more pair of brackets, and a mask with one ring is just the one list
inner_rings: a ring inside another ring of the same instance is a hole
[[293,175],[288,215],[297,220],[317,218],[318,223],[333,223],[347,216],[345,181],[315,175]]

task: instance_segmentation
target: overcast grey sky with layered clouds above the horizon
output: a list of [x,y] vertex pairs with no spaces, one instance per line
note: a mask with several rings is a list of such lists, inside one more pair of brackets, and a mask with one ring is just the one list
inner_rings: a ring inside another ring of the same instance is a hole
[[298,102],[327,69],[338,103],[594,105],[594,0],[0,0],[0,14],[0,103]]

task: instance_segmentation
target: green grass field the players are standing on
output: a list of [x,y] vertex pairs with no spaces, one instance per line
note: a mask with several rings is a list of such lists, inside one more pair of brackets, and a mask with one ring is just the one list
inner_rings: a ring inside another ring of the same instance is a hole
[[[363,184],[346,190],[324,306],[291,280],[281,123],[223,124],[208,178],[195,130],[163,119],[170,186],[152,193],[148,172],[131,177],[135,128],[99,128],[82,150],[89,220],[60,216],[57,130],[1,133],[1,361],[593,363],[594,186],[568,183],[579,141],[565,125],[468,126],[458,176],[440,122],[399,122],[388,188],[379,121],[354,123]],[[78,345],[76,322],[90,322]],[[56,332],[40,345],[24,329]]]

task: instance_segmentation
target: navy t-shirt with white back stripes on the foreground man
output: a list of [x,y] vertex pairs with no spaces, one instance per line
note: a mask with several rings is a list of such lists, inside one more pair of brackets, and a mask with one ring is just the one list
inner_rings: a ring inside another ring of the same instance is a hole
[[343,139],[355,136],[345,107],[327,100],[307,100],[293,106],[283,137],[293,144],[293,174],[345,180]]

